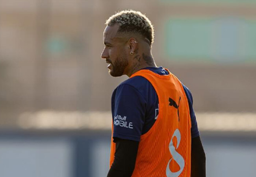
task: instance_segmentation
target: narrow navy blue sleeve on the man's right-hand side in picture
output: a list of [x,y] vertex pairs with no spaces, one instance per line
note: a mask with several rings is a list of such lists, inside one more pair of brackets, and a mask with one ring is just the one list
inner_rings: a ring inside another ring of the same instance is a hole
[[195,137],[199,136],[199,131],[198,131],[198,127],[197,127],[197,120],[196,120],[195,112],[193,110],[193,97],[192,97],[190,90],[185,85],[182,84],[182,86],[186,93],[187,101],[189,104],[189,112],[190,112],[190,118],[191,118],[191,138],[195,138]]

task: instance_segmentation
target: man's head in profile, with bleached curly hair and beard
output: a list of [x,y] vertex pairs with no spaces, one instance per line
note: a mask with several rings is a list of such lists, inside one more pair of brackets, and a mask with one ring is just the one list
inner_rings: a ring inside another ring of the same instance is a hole
[[[134,68],[134,53],[138,46],[151,49],[154,28],[148,18],[139,11],[121,11],[106,21],[101,57],[109,63],[109,73],[117,77],[128,75]],[[139,42],[139,44],[138,44]]]

